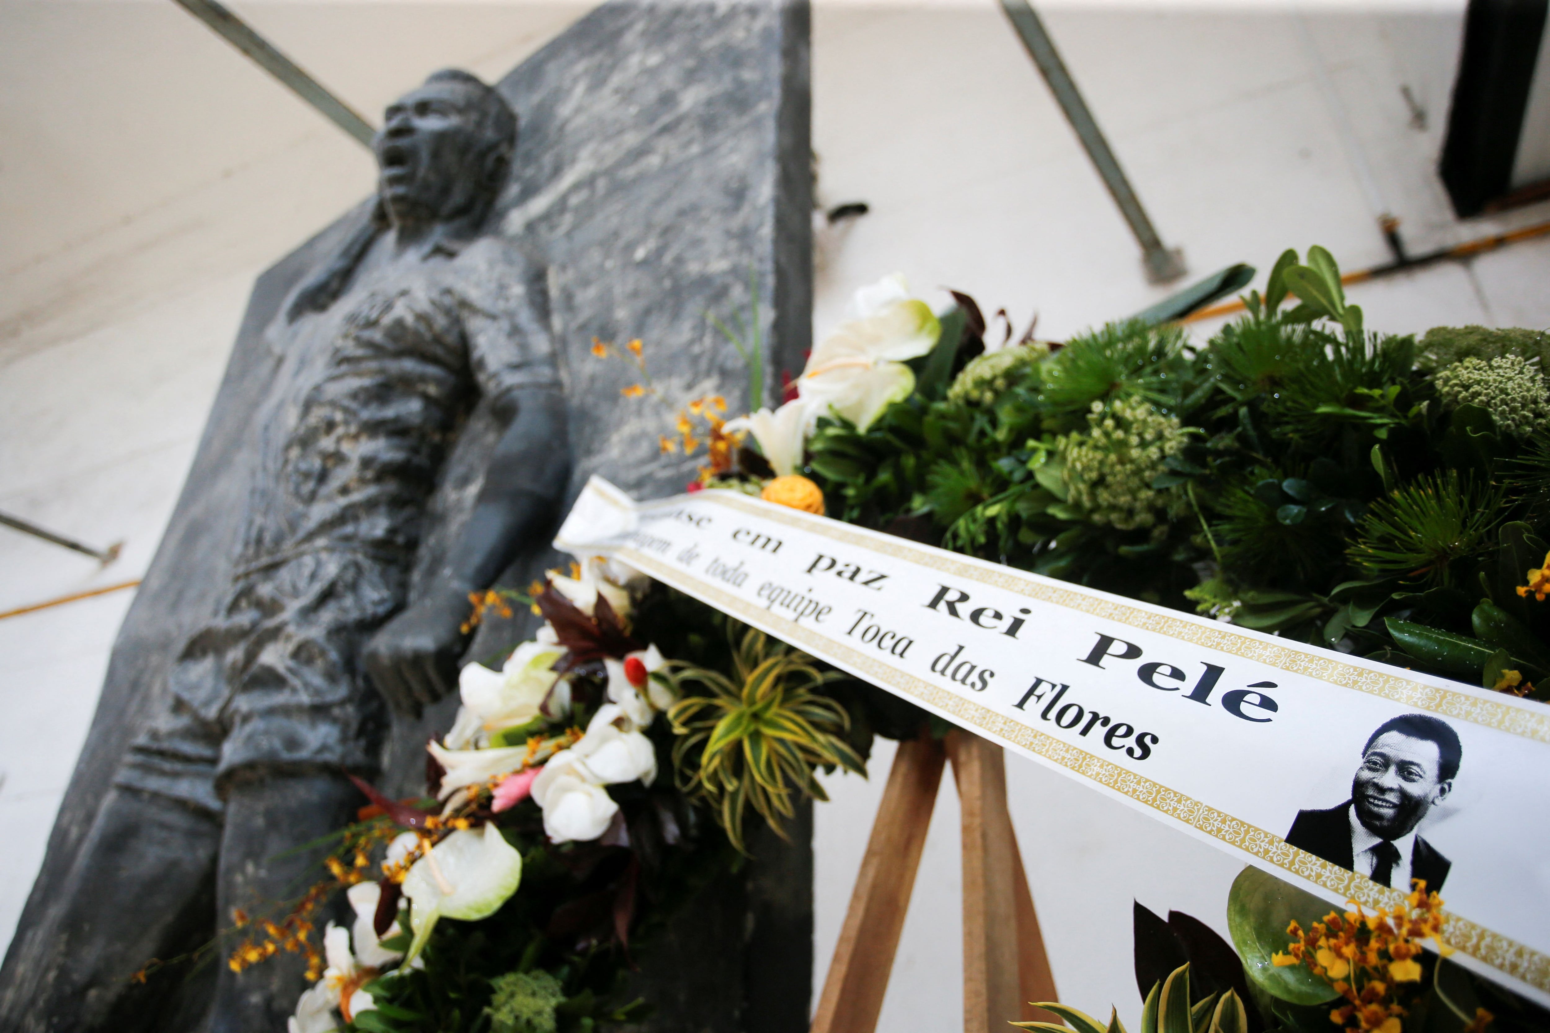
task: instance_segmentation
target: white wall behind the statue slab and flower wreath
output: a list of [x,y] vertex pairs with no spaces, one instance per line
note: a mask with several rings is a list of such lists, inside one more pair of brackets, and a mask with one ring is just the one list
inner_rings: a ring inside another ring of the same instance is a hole
[[[550,3],[234,5],[375,119],[429,70],[496,76],[578,14]],[[1285,246],[1345,268],[1386,249],[1285,9],[1043,8],[1079,85],[1192,273]],[[1414,251],[1550,218],[1452,220],[1432,173],[1462,5],[1307,8]],[[1428,108],[1410,129],[1407,84]],[[826,243],[818,330],[901,269],[973,293],[1042,336],[1162,294],[994,0],[817,0],[814,138],[828,203],[873,206]],[[0,610],[138,576],[197,443],[253,277],[370,189],[369,156],[164,0],[0,0],[0,510],[90,542],[105,570],[0,528]],[[1366,283],[1369,325],[1550,324],[1550,242]],[[122,592],[0,619],[0,942],[9,937],[85,734]],[[891,759],[818,808],[817,980]],[[1130,901],[1224,928],[1237,864],[1011,759],[1014,822],[1062,997],[1139,1013]],[[950,787],[950,779],[944,779]],[[959,1022],[958,812],[944,788],[884,1013]]]

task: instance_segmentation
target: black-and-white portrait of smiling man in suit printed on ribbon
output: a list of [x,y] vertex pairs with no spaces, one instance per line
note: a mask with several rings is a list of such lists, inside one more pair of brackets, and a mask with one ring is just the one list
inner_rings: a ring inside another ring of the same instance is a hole
[[1325,810],[1300,810],[1286,843],[1330,864],[1409,891],[1423,880],[1440,891],[1452,861],[1418,829],[1452,793],[1463,760],[1454,728],[1429,714],[1383,722],[1362,746],[1350,799]]

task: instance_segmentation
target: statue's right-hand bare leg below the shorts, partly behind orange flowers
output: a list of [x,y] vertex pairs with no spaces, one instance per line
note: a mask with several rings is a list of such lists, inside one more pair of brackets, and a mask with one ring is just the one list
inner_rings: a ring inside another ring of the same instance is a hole
[[[343,774],[316,770],[243,768],[222,781],[226,829],[220,843],[217,914],[229,921],[234,908],[264,912],[294,901],[327,878],[321,861],[327,847],[290,853],[349,824],[361,793]],[[329,915],[319,915],[313,943],[321,949]],[[274,1033],[296,1010],[307,988],[307,962],[279,952],[232,973],[222,965],[215,979],[211,1033]]]

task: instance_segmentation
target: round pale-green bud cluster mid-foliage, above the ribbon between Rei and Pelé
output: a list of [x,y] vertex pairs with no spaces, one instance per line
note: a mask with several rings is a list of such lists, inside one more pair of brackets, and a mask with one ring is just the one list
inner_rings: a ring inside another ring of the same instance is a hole
[[1178,516],[1186,502],[1176,488],[1158,491],[1152,482],[1167,469],[1164,460],[1184,448],[1178,417],[1162,415],[1142,398],[1121,398],[1107,407],[1094,401],[1087,423],[1085,434],[1068,434],[1059,444],[1070,500],[1093,523],[1166,531],[1158,519]]

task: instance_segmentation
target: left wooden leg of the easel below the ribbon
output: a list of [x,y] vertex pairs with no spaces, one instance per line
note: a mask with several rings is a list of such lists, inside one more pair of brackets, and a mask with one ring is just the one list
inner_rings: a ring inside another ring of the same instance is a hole
[[899,743],[812,1033],[873,1033],[877,1027],[946,757],[928,736]]

